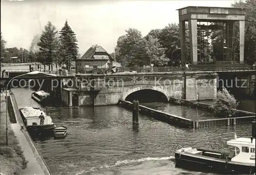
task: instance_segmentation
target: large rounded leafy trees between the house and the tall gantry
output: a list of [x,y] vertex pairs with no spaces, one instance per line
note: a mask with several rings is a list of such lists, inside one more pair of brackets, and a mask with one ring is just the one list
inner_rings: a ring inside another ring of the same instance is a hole
[[141,32],[137,29],[128,29],[125,31],[126,35],[120,36],[117,40],[116,46],[116,60],[122,66],[143,66],[150,65],[164,65],[168,59],[165,58],[165,48],[159,43],[157,33],[160,30],[153,30],[151,33],[156,35],[142,38]]

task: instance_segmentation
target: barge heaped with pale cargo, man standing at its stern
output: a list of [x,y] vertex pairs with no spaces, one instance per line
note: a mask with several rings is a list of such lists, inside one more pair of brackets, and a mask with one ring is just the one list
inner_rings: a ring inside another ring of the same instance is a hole
[[[32,135],[48,135],[53,134],[56,125],[52,122],[52,118],[45,114],[40,108],[25,107],[19,109],[20,115],[25,123],[27,131]],[[45,117],[44,124],[40,125],[39,115]]]

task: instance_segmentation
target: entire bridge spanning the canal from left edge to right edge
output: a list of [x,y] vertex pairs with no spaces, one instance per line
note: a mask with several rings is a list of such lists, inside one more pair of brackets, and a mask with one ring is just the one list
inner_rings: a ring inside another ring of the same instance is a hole
[[[255,70],[254,70],[255,72]],[[249,74],[248,74],[249,73]],[[182,97],[189,100],[212,99],[217,95],[217,87],[230,84],[230,80],[236,80],[237,72],[213,73],[211,71],[188,71],[188,72],[152,72],[152,73],[116,73],[116,74],[76,74],[70,77],[56,77],[39,73],[34,76],[23,76],[17,79],[36,80],[36,87],[47,92],[60,93],[63,102],[72,106],[73,96],[76,94],[79,106],[83,105],[112,105],[117,104],[119,99],[125,99],[134,92],[143,90],[158,91],[168,100],[170,97]],[[231,77],[230,77],[231,76]],[[242,76],[242,77],[241,77]],[[1,88],[11,78],[1,79]],[[219,79],[227,79],[224,84]],[[252,71],[241,72],[238,76],[243,84],[246,81],[246,93],[255,89],[255,75]],[[227,83],[226,83],[227,82]],[[254,82],[254,83],[253,83]],[[17,83],[17,82],[16,82]],[[42,86],[40,86],[42,85]],[[240,88],[241,89],[241,88]],[[248,91],[248,92],[247,92]]]

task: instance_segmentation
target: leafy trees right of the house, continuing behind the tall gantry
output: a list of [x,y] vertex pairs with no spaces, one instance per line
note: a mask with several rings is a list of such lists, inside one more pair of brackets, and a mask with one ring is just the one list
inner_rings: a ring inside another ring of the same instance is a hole
[[[256,1],[234,2],[231,7],[246,8],[244,60],[247,64],[256,61]],[[211,23],[217,24],[217,23]],[[235,28],[239,29],[239,23]],[[188,26],[186,25],[186,29]],[[234,33],[236,45],[234,53],[239,55],[239,32]],[[201,30],[198,32],[200,61],[223,61],[225,36],[223,30]],[[127,29],[125,35],[117,40],[116,61],[122,66],[167,66],[180,64],[179,24],[170,23],[163,29],[153,29],[142,37],[137,29]],[[175,49],[177,49],[175,51]],[[186,62],[190,62],[190,43],[188,30],[185,31]],[[173,53],[173,51],[175,51]],[[229,51],[230,52],[230,51]]]

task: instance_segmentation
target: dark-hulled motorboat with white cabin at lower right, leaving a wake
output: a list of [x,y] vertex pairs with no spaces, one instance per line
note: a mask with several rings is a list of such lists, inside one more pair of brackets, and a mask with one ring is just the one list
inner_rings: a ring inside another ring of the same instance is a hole
[[235,134],[227,145],[234,147],[229,153],[182,147],[175,151],[176,167],[222,174],[255,174],[255,120],[251,138],[237,138]]

